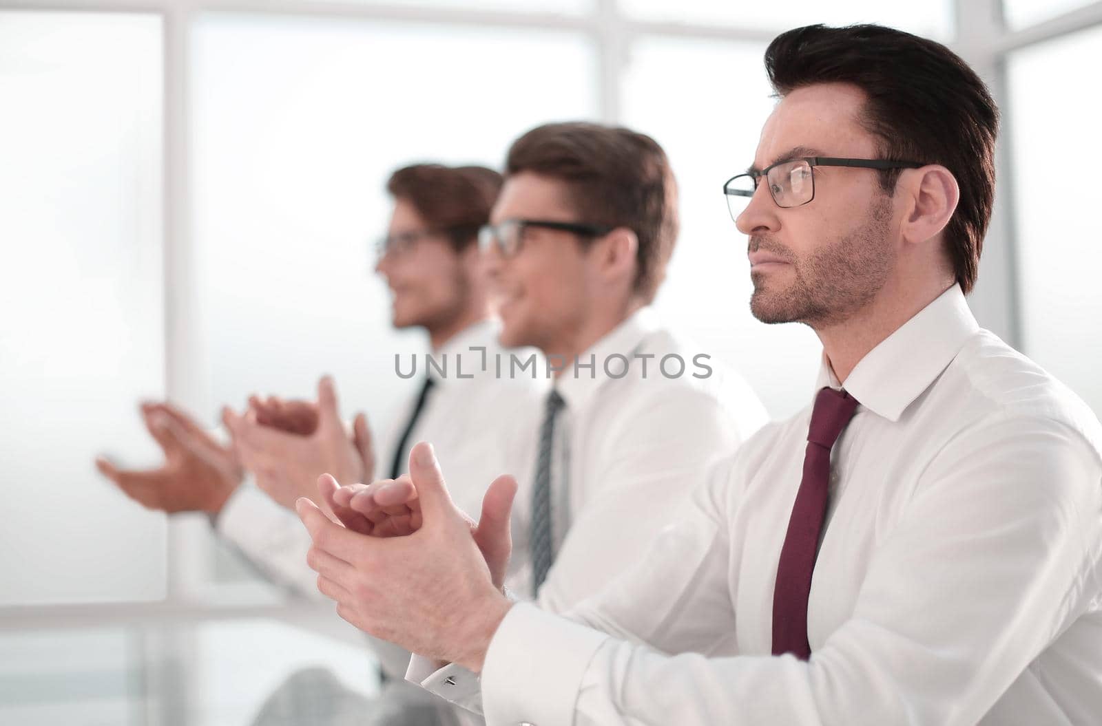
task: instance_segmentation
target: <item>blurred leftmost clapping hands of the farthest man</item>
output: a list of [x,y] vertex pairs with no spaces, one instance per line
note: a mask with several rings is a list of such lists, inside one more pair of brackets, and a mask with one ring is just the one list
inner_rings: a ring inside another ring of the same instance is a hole
[[241,466],[234,451],[169,403],[143,403],[141,413],[164,452],[164,464],[154,469],[119,469],[100,456],[96,459],[100,474],[148,509],[169,513],[222,511],[241,483]]

